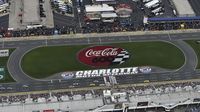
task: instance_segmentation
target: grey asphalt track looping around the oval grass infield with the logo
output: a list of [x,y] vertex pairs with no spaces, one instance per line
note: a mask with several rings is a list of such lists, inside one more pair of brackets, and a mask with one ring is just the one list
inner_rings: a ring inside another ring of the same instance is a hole
[[[113,36],[113,37],[90,37],[90,38],[66,38],[49,40],[27,40],[27,41],[7,41],[0,42],[3,48],[17,48],[10,56],[7,67],[11,76],[17,81],[12,84],[1,84],[3,92],[51,90],[61,88],[89,87],[90,84],[104,84],[103,77],[70,79],[70,80],[37,80],[26,75],[21,69],[21,59],[26,52],[39,46],[57,45],[80,45],[80,44],[103,44],[136,41],[167,41],[182,50],[185,55],[185,64],[178,70],[151,74],[136,74],[126,76],[115,76],[118,84],[143,83],[144,80],[150,82],[186,80],[200,78],[200,71],[195,70],[197,56],[194,50],[186,44],[184,39],[200,39],[200,33],[179,33],[179,34],[154,34],[139,36]],[[79,85],[74,86],[74,83]]]

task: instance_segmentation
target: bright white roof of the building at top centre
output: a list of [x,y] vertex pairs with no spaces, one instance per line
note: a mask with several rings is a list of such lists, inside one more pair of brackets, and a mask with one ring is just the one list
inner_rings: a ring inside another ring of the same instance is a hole
[[108,12],[108,11],[114,11],[114,8],[112,6],[107,5],[107,4],[86,5],[85,10],[86,10],[86,12]]

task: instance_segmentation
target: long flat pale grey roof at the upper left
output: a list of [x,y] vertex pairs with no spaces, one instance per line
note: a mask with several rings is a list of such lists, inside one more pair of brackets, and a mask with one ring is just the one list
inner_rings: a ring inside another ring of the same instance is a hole
[[39,1],[38,0],[23,0],[23,23],[35,24],[40,22]]

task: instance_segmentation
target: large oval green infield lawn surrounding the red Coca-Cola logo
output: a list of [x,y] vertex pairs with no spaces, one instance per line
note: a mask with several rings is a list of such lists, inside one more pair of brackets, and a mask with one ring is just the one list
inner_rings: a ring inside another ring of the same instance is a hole
[[[126,49],[131,57],[113,67],[158,66],[177,69],[184,64],[180,49],[166,42],[133,42],[106,44]],[[77,60],[77,53],[92,45],[40,47],[28,52],[22,59],[22,69],[34,78],[45,78],[63,71],[95,69]]]

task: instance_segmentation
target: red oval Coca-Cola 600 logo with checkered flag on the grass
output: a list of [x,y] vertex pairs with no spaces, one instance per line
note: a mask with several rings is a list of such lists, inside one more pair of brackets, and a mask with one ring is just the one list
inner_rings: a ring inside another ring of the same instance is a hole
[[113,46],[93,46],[78,53],[80,62],[93,67],[122,64],[129,57],[129,53],[126,50]]

